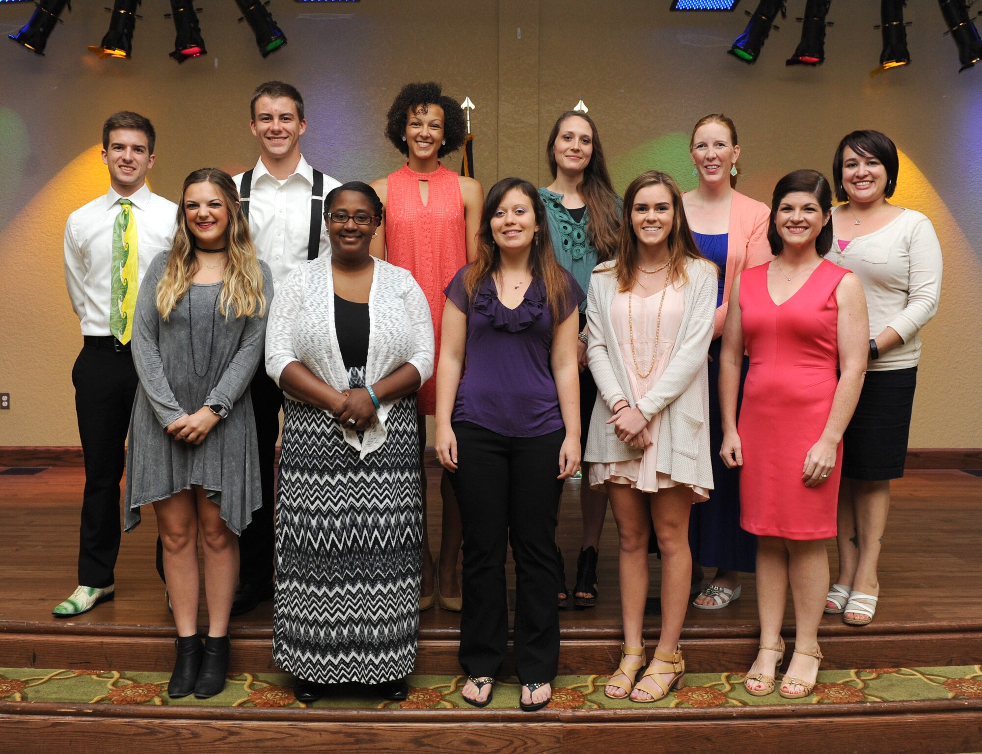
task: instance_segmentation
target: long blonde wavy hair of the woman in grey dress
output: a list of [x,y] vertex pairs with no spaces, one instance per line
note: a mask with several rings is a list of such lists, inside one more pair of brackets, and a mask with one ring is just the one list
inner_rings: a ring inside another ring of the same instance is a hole
[[199,262],[194,254],[194,236],[188,227],[184,201],[188,188],[202,183],[218,188],[229,210],[229,227],[226,231],[228,259],[222,275],[219,310],[226,319],[229,319],[233,310],[236,317],[261,317],[266,313],[266,297],[262,295],[262,270],[256,259],[246,213],[239,203],[239,191],[236,190],[232,176],[218,168],[201,168],[185,179],[178,206],[174,245],[167,254],[167,266],[157,284],[157,311],[167,321],[178,301],[188,293],[191,279],[199,269]]

